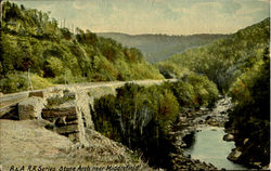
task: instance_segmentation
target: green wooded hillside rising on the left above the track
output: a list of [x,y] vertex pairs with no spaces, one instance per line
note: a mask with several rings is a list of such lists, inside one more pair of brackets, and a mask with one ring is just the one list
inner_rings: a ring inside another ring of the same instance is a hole
[[36,89],[64,82],[164,78],[138,49],[89,30],[77,28],[77,32],[60,28],[48,13],[4,2],[0,92],[25,90],[28,69]]

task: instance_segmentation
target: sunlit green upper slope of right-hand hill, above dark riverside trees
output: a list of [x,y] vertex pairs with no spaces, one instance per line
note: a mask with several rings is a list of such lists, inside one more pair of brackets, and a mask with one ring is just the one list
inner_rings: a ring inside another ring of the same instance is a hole
[[235,79],[261,60],[269,47],[270,18],[238,30],[224,39],[176,54],[156,65],[166,77],[195,71],[206,75],[227,91]]

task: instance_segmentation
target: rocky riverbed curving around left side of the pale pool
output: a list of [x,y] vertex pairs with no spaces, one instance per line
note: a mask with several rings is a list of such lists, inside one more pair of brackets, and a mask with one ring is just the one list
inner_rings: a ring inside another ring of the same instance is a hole
[[175,150],[170,154],[172,170],[218,170],[211,163],[192,159],[183,149],[191,145],[193,134],[198,127],[223,127],[229,119],[227,113],[231,107],[231,98],[225,96],[219,100],[211,109],[204,107],[182,109],[179,122],[176,126],[177,130],[171,132],[171,141],[175,147]]

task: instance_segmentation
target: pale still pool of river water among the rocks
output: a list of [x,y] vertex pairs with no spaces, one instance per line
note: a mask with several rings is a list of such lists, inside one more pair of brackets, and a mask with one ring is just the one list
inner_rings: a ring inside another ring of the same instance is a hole
[[190,148],[185,149],[192,158],[201,161],[210,162],[219,169],[227,170],[246,170],[242,165],[234,163],[227,159],[231,149],[234,148],[234,142],[222,140],[224,135],[223,128],[204,127],[201,132],[195,133],[195,142]]

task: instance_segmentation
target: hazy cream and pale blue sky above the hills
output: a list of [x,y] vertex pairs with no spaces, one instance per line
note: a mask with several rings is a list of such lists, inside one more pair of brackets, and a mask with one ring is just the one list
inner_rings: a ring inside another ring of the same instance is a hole
[[[269,0],[36,0],[57,21],[93,32],[230,34],[268,17]],[[66,24],[66,25],[67,25]]]

